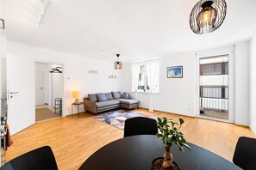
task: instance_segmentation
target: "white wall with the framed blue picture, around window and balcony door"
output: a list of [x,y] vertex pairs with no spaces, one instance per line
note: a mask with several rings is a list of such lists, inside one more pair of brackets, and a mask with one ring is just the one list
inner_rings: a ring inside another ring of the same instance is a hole
[[[238,46],[238,61],[248,58],[244,57],[247,54],[248,48],[244,45],[248,44],[240,43]],[[236,124],[248,125],[248,115],[249,112],[236,112],[235,111],[235,100],[239,102],[238,107],[243,108],[247,106],[247,102],[244,101],[247,94],[242,94],[242,96],[235,96],[235,78],[234,75],[234,46],[228,46],[218,49],[207,50],[203,52],[187,52],[180,55],[170,56],[161,58],[160,62],[160,93],[153,94],[154,109],[164,112],[173,112],[182,115],[188,115],[195,117],[199,114],[199,58],[218,56],[223,54],[229,55],[229,112],[231,113],[230,122],[235,122]],[[243,61],[240,63],[239,68],[248,70],[248,61]],[[183,65],[184,68],[184,78],[172,79],[166,78],[166,67]],[[122,91],[131,92],[131,69],[130,64],[124,64],[124,69],[122,70]],[[240,76],[240,75],[238,75]],[[238,77],[240,78],[240,77]],[[246,79],[246,78],[244,78]],[[245,82],[237,81],[237,90],[240,87],[248,86],[248,80]],[[135,97],[134,93],[132,96]],[[148,108],[149,106],[149,94],[138,94],[138,100],[140,100],[140,107]],[[235,119],[234,115],[237,118]]]

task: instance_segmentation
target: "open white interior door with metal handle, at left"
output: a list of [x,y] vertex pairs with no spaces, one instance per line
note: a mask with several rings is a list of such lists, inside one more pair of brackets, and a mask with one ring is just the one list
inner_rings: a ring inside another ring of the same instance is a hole
[[35,122],[34,77],[32,59],[7,54],[8,123],[11,135]]

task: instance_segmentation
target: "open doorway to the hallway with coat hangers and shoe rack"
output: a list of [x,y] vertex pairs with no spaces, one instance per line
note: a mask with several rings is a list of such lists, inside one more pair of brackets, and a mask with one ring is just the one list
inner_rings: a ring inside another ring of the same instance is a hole
[[62,116],[63,66],[35,62],[35,121]]

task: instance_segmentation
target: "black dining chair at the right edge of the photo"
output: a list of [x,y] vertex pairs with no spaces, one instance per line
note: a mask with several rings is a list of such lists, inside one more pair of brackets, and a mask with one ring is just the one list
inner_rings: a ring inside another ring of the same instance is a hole
[[233,162],[245,170],[256,169],[256,139],[239,137],[234,150]]

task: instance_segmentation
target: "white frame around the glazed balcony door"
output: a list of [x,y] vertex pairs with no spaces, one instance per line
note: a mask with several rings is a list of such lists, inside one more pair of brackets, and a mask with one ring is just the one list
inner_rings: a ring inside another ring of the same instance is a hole
[[[200,58],[209,58],[209,57],[215,57],[215,56],[222,56],[222,55],[228,55],[228,120],[222,119],[222,118],[210,118],[210,117],[204,117],[200,115],[200,101],[199,101],[199,95],[200,95],[200,76],[199,76],[199,60]],[[205,118],[205,119],[211,119],[211,120],[217,120],[222,122],[228,122],[228,123],[234,123],[235,118],[235,110],[234,110],[234,46],[229,46],[225,48],[215,49],[215,50],[209,50],[204,52],[198,52],[196,54],[196,61],[195,61],[195,73],[196,73],[196,93],[194,99],[196,100],[196,116],[198,118]]]

